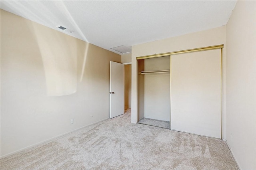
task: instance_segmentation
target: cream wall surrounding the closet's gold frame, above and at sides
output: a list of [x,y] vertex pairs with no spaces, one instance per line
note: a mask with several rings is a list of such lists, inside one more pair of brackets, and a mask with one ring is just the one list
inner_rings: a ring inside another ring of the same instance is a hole
[[[183,36],[167,38],[154,42],[148,42],[132,46],[132,118],[131,122],[136,123],[136,57],[144,55],[153,55],[184,49],[193,49],[212,45],[224,44],[223,49],[223,121],[226,117],[226,26],[195,32]],[[225,125],[223,126],[225,132]],[[224,138],[225,138],[224,133]]]

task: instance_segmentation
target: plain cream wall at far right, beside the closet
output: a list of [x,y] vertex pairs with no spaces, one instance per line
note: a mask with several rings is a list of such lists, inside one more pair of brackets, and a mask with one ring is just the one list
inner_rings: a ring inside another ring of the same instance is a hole
[[226,25],[226,140],[241,169],[256,169],[255,6],[238,1]]

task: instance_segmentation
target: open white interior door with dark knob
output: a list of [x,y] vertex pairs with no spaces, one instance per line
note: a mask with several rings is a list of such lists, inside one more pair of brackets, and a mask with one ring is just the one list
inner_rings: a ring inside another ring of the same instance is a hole
[[124,114],[124,65],[110,61],[110,118]]

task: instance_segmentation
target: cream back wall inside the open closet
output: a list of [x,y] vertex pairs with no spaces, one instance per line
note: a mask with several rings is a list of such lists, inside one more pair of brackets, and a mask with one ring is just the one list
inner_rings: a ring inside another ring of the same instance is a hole
[[[144,71],[170,69],[170,56],[144,59]],[[170,121],[170,73],[144,75],[144,117]]]

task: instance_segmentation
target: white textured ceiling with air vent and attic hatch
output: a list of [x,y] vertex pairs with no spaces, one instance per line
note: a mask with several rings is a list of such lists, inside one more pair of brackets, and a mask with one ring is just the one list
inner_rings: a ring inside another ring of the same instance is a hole
[[226,25],[236,1],[4,1],[1,8],[108,49]]

